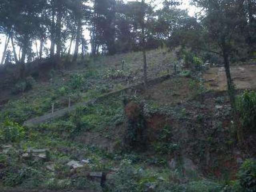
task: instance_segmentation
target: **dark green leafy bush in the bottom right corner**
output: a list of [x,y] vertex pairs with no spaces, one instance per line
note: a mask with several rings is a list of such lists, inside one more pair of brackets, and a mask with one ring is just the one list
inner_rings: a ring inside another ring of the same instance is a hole
[[256,191],[256,160],[246,160],[238,172],[238,181],[244,192]]

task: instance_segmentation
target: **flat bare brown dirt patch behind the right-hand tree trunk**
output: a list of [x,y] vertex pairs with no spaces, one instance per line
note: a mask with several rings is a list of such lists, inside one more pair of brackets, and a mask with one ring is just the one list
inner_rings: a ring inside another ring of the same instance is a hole
[[[233,66],[230,69],[236,89],[256,89],[256,65]],[[204,74],[206,86],[211,90],[227,90],[224,67],[210,68]]]

